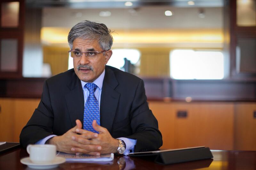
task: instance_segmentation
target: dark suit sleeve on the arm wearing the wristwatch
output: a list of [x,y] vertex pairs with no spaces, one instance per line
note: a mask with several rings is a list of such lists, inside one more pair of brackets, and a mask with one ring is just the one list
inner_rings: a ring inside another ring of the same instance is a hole
[[153,151],[163,144],[158,122],[148,108],[143,80],[140,80],[132,102],[131,109],[132,135],[127,138],[137,139],[134,152]]

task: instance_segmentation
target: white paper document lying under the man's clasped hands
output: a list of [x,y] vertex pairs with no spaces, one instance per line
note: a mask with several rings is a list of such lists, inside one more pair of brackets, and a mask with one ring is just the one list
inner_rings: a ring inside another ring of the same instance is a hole
[[92,155],[75,155],[75,154],[68,154],[63,152],[58,152],[57,156],[63,157],[66,161],[72,162],[109,162],[114,159],[114,154],[102,154],[100,156],[92,156]]

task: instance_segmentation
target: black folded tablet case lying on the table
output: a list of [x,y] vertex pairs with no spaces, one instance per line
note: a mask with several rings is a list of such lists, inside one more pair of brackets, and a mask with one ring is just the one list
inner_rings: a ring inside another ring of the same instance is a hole
[[150,157],[150,159],[153,158],[156,163],[163,164],[163,165],[213,158],[212,152],[208,147],[182,149],[182,150],[158,152],[158,153],[152,153],[152,154],[147,153],[145,155],[134,154],[130,156],[144,157],[144,159],[146,159],[147,157],[148,158]]

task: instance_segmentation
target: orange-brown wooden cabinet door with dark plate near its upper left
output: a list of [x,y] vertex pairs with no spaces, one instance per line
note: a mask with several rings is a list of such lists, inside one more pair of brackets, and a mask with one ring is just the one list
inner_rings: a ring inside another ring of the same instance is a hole
[[[233,104],[178,103],[178,110],[187,110],[187,118],[175,117],[175,148],[208,146],[211,149],[233,150]],[[225,142],[224,142],[225,141]]]

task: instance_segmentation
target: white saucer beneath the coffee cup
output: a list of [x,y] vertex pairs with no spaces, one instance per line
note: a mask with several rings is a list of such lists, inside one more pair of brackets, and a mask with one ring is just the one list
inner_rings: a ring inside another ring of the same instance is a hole
[[29,157],[26,157],[26,158],[20,159],[20,162],[22,164],[25,164],[28,167],[34,168],[34,169],[50,169],[50,168],[55,168],[55,167],[59,166],[59,164],[62,164],[64,162],[66,162],[66,159],[62,158],[62,157],[56,156],[56,158],[53,161],[51,161],[51,162],[33,163],[29,159]]

